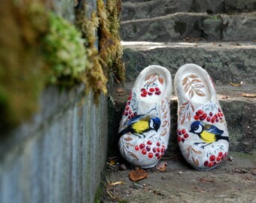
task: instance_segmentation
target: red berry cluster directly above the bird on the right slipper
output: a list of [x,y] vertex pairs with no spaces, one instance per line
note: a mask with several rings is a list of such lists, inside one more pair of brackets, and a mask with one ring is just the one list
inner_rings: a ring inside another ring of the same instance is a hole
[[196,115],[194,116],[195,120],[207,120],[208,122],[211,123],[218,123],[221,120],[223,120],[223,113],[221,112],[221,109],[218,108],[218,113],[213,114],[212,112],[210,112],[209,114],[206,114],[206,112],[203,112],[203,110],[198,110],[196,112]]

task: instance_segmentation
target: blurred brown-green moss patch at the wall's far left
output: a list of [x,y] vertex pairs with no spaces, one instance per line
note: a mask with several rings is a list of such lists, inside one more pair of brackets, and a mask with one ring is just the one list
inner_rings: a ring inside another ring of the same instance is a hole
[[[44,5],[2,1],[0,7],[0,131],[28,119],[44,84],[41,38],[47,32]],[[17,23],[19,22],[19,23]]]

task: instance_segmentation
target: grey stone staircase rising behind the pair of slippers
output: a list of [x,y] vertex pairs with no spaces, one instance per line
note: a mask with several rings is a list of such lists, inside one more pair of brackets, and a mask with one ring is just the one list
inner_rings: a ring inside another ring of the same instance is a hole
[[[243,93],[256,94],[256,0],[123,0],[121,19],[120,35],[124,47],[123,61],[126,66],[126,82],[109,84],[111,87],[108,110],[109,156],[118,156],[119,154],[117,147],[119,122],[126,99],[139,72],[148,65],[162,65],[168,68],[173,79],[181,65],[195,63],[205,68],[215,82],[230,133],[230,154],[237,160],[233,165],[226,162],[223,164],[224,166],[218,167],[219,169],[216,170],[219,170],[219,178],[227,174],[227,170],[230,170],[228,168],[240,170],[243,167],[240,164],[245,158],[239,158],[236,153],[252,155],[252,158],[247,159],[248,165],[244,165],[244,167],[256,168],[255,160],[251,161],[255,159],[256,98],[242,96]],[[230,83],[237,86],[232,86]],[[176,141],[177,98],[174,86],[171,117],[169,149],[165,155],[169,158],[181,156]],[[180,164],[182,158],[180,157],[178,160]],[[119,159],[119,162],[123,161]],[[163,180],[169,180],[169,177],[175,178],[171,177],[174,172],[178,174],[179,171],[189,171],[187,176],[182,177],[184,180],[194,177],[193,169],[184,163],[177,166],[177,162],[174,162],[173,159],[168,161],[166,176],[159,177],[162,180],[159,180],[157,173],[153,172],[152,176],[154,177],[150,177],[148,182],[147,180],[142,182],[150,185],[154,181],[154,188],[157,186],[163,188]],[[172,164],[176,164],[176,167]],[[127,171],[107,171],[107,179],[112,182],[120,180],[122,177],[124,180],[127,175]],[[187,182],[184,182],[183,179],[178,182],[186,185]],[[230,196],[228,188],[237,187],[238,183],[229,183],[227,179],[225,181],[227,187],[223,191],[226,192],[225,195]],[[154,197],[151,198],[152,191],[147,193],[147,186],[142,186],[144,192],[140,189],[140,194],[133,189],[130,193],[128,192],[129,194],[122,192],[129,191],[131,187],[129,187],[130,180],[126,178],[125,182],[128,186],[116,187],[112,195],[117,195],[120,199],[127,199],[129,202],[181,202],[181,200],[190,202],[188,199],[195,196],[193,192],[190,192],[191,194],[188,196],[183,196],[182,192],[184,191],[175,188],[175,183],[172,182],[174,186],[169,186],[169,188],[182,193],[175,194],[177,201],[173,198],[173,194],[170,195],[167,192],[168,189],[162,190],[162,194],[166,198],[161,197],[162,201],[158,201]],[[191,183],[192,185],[193,183]],[[206,186],[206,183],[203,186]],[[132,187],[134,188],[134,185]],[[117,192],[118,189],[120,189],[119,192]],[[154,191],[154,189],[152,190]],[[227,201],[256,201],[255,198],[246,199],[245,196],[251,194],[245,190],[242,189],[244,195],[239,198],[231,196],[231,198],[227,198]],[[223,195],[218,192],[215,194]],[[155,193],[155,195],[159,195],[159,193]],[[171,197],[172,201],[167,199]],[[109,198],[109,196],[106,199],[108,201],[105,202],[113,201],[113,198]],[[220,202],[221,200],[213,198],[213,196],[202,199],[206,202]],[[193,201],[200,202],[196,198],[193,198]]]

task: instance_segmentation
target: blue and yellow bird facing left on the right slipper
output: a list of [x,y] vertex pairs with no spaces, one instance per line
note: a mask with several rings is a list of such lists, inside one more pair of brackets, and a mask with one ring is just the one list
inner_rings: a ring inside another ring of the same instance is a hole
[[206,145],[201,146],[202,148],[218,140],[229,141],[227,136],[222,136],[222,134],[224,133],[223,130],[218,129],[216,126],[209,125],[200,121],[195,121],[194,123],[192,123],[189,132],[197,134],[203,141],[196,142],[194,144],[198,145],[207,143]]

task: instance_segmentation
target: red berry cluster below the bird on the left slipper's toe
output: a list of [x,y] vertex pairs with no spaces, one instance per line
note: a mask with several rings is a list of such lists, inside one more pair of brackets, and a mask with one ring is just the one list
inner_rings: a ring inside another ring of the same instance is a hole
[[147,141],[147,144],[139,144],[134,147],[136,151],[141,151],[143,155],[147,155],[149,159],[152,159],[154,156],[157,159],[161,159],[163,154],[166,152],[164,145],[161,146],[160,142],[157,142],[157,147],[152,147],[153,142]]

